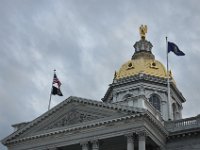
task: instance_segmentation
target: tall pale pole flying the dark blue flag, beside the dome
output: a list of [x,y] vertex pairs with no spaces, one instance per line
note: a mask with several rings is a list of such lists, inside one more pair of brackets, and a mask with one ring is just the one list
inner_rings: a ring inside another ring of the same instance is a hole
[[168,110],[168,115],[169,115],[169,119],[171,119],[171,102],[170,102],[170,73],[169,73],[169,57],[168,57],[168,40],[167,40],[167,36],[166,36],[166,53],[167,53],[167,100],[168,100],[168,104],[169,104],[169,110]]

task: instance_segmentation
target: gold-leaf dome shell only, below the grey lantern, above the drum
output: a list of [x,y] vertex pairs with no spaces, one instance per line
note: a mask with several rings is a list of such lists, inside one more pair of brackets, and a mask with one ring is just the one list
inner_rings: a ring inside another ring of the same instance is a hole
[[132,60],[129,60],[121,66],[115,74],[115,79],[126,78],[139,73],[167,78],[167,71],[164,65],[155,60],[151,52],[140,51],[133,55]]

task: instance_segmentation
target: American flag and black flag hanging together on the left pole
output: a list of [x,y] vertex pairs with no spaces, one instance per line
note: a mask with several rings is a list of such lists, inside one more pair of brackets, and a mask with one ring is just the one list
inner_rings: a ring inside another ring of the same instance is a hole
[[63,96],[63,94],[62,94],[62,92],[60,90],[60,86],[61,86],[61,82],[57,78],[56,73],[54,73],[51,94]]

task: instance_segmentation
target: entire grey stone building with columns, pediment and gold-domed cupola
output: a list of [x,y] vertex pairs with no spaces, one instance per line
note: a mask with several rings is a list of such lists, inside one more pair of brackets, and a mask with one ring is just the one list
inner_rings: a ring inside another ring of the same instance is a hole
[[13,125],[2,143],[9,150],[200,150],[200,116],[182,119],[186,100],[146,32],[141,26],[131,60],[115,72],[102,101],[69,97]]

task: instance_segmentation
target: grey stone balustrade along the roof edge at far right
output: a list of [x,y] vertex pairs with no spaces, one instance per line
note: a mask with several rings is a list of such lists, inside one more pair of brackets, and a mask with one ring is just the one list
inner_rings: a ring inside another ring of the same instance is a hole
[[165,127],[170,132],[181,131],[192,128],[200,128],[200,115],[197,115],[196,117],[180,119],[175,121],[166,121]]

